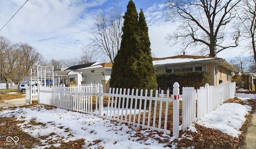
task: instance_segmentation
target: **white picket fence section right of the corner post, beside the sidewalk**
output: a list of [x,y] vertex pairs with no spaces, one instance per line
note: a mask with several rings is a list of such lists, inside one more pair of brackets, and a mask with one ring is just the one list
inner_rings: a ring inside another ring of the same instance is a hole
[[194,87],[183,87],[182,131],[234,96],[236,96],[235,82],[220,83],[217,86],[209,86],[206,83],[197,90]]

